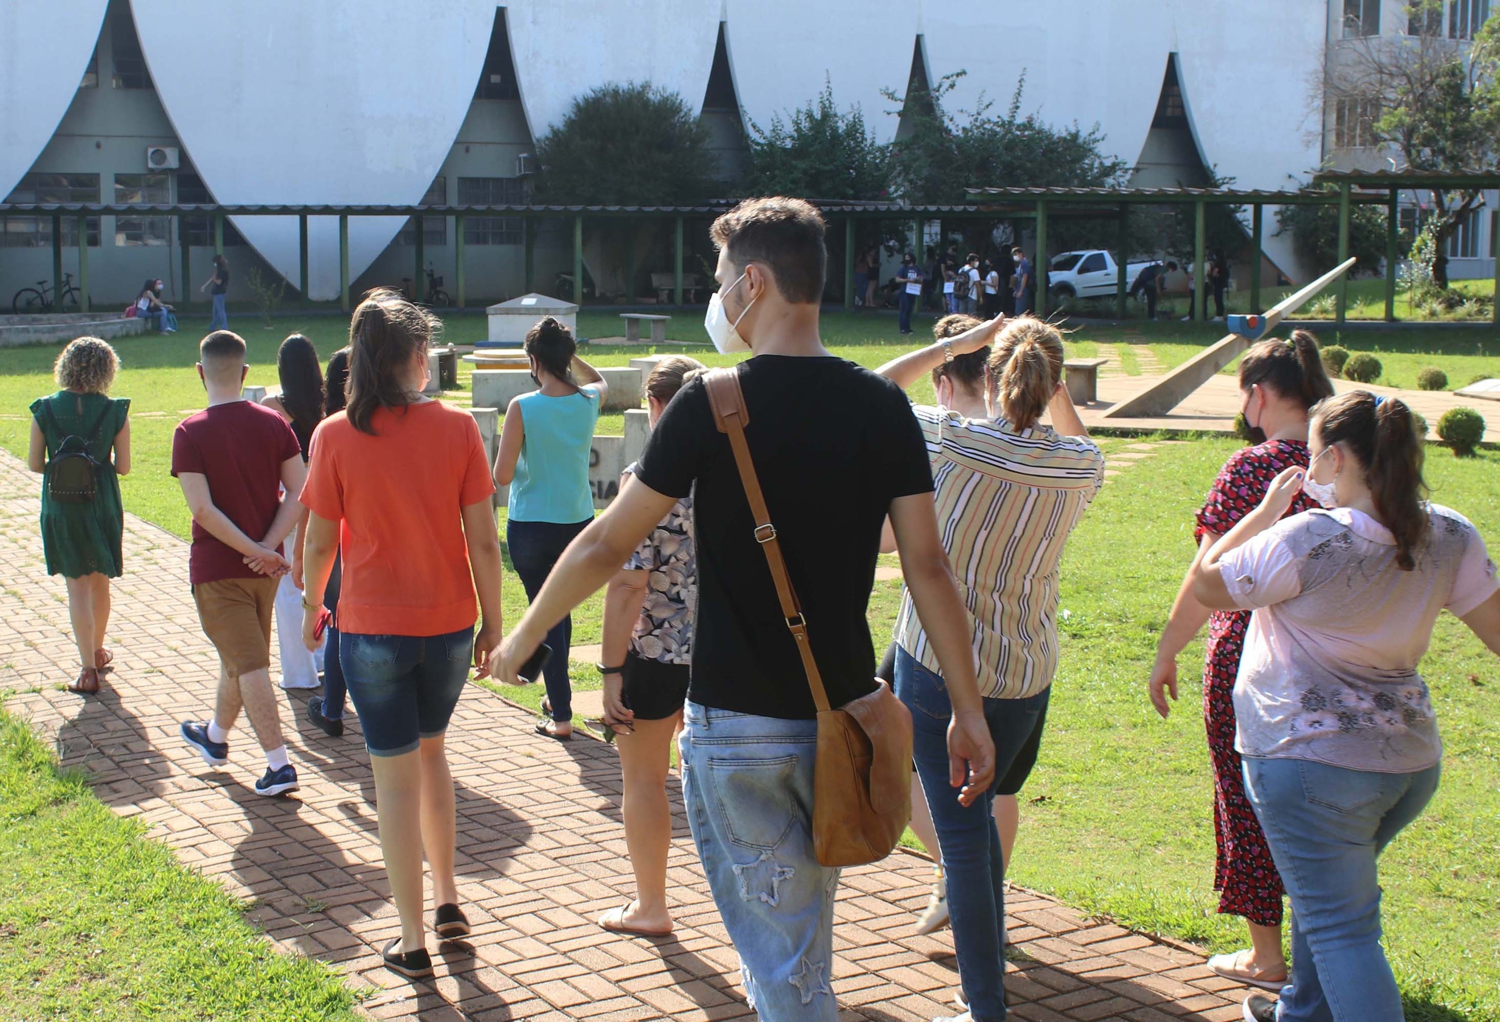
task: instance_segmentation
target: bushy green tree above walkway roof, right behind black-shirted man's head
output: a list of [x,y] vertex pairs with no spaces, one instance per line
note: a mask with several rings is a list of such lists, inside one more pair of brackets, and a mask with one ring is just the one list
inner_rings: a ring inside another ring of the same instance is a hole
[[882,199],[890,193],[890,147],[864,124],[858,106],[840,111],[832,84],[818,99],[771,118],[750,121],[746,190],[808,199]]

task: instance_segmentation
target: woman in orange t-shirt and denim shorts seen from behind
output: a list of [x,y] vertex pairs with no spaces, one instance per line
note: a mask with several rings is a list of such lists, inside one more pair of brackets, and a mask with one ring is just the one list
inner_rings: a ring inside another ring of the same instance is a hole
[[[495,484],[468,412],[422,396],[436,324],[393,291],[350,322],[350,400],[318,426],[302,502],[303,641],[316,644],[334,553],[344,556],[339,661],[375,773],[381,853],[400,914],[386,967],[432,973],[422,857],[432,866],[441,940],[468,920],[453,880],[453,776],[442,737],[472,662],[502,635]],[[474,637],[476,589],[483,625]]]

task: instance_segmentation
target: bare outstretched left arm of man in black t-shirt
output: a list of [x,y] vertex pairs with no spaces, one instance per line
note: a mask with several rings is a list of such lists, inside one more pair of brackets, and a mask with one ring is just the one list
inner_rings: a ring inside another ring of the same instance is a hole
[[[490,653],[490,677],[519,685],[516,671],[542,644],[548,629],[609,581],[674,504],[676,498],[630,478],[615,502],[562,551],[531,607]],[[932,496],[927,496],[927,505],[932,507]],[[933,527],[936,530],[936,524]]]

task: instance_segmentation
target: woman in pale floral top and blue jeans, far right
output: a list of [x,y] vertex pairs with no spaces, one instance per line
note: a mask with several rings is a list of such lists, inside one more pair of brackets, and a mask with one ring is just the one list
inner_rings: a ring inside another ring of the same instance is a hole
[[[1500,583],[1479,532],[1424,499],[1424,441],[1398,399],[1312,409],[1288,468],[1192,572],[1194,598],[1252,610],[1234,712],[1245,790],[1292,898],[1292,980],[1248,1022],[1401,1022],[1380,947],[1380,853],[1437,790],[1418,673],[1440,611],[1500,653]],[[1323,507],[1286,517],[1298,496]]]

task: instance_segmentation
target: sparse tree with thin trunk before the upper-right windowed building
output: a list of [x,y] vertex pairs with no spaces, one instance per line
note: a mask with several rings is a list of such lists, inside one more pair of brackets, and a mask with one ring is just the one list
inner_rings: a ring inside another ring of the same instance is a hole
[[[1358,133],[1412,171],[1500,171],[1500,12],[1473,42],[1449,36],[1442,0],[1413,0],[1406,34],[1368,36],[1329,61],[1324,103],[1358,118]],[[1452,13],[1452,12],[1450,12]],[[1436,189],[1431,279],[1448,288],[1448,240],[1479,189]]]

